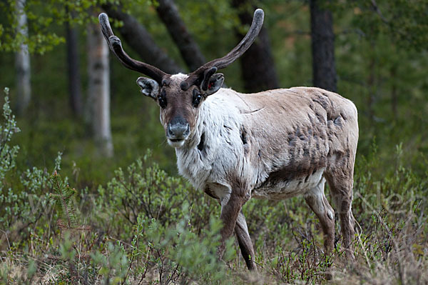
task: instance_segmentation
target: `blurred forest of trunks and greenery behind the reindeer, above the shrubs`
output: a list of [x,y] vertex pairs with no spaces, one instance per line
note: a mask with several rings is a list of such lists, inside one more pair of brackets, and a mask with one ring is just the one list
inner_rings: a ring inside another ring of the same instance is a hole
[[[265,9],[264,28],[239,63],[222,71],[227,86],[249,92],[313,85],[336,90],[359,109],[359,155],[370,154],[376,141],[387,170],[390,153],[402,142],[408,163],[424,171],[424,0],[0,1],[0,87],[17,86],[11,100],[22,110],[18,163],[46,165],[60,150],[64,175],[76,175],[77,164],[81,185],[76,186],[91,187],[151,148],[161,167],[175,173],[158,107],[135,84],[139,74],[111,56],[96,59],[103,48],[92,41],[91,33],[98,31],[93,11],[106,11],[128,54],[176,73],[230,51],[255,7]],[[18,60],[23,49],[29,51],[26,62],[31,60],[26,79],[22,66],[29,63]],[[26,81],[31,97],[21,95]]]

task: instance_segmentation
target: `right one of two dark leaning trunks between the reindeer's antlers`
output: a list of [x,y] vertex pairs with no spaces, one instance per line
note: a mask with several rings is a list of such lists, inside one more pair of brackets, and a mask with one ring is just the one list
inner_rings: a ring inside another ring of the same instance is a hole
[[158,0],[156,11],[158,11],[159,17],[163,21],[163,24],[165,24],[166,29],[168,29],[170,36],[180,50],[180,54],[190,71],[195,71],[200,66],[203,66],[205,58],[198,44],[196,44],[188,32],[180,14],[178,14],[178,9],[174,1]]

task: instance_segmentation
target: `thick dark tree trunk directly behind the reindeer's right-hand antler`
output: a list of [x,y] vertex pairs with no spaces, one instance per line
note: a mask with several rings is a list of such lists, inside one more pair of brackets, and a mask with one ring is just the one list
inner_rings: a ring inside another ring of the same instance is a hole
[[[250,26],[253,21],[254,7],[251,6],[252,12],[245,9],[245,7],[250,6],[250,1],[233,0],[232,6],[238,10],[241,24]],[[236,34],[239,40],[245,36],[245,34],[241,34],[238,31]],[[260,30],[258,40],[240,57],[240,66],[246,92],[278,88],[279,84],[270,50],[269,36],[265,28]]]

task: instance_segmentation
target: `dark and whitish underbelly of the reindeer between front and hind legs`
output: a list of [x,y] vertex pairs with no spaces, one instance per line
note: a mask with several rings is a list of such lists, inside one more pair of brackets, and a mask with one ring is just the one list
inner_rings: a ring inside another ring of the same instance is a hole
[[280,200],[305,194],[320,183],[324,170],[325,168],[314,169],[307,175],[297,176],[287,173],[287,169],[274,171],[263,184],[253,189],[251,196],[256,199]]

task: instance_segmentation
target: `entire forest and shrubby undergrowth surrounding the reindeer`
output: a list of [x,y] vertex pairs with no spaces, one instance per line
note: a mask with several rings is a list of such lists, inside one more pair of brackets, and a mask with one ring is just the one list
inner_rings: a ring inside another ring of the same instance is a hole
[[[140,74],[108,56],[97,34],[105,11],[133,58],[189,72],[228,53],[255,7],[265,10],[264,29],[221,71],[225,84],[320,86],[359,111],[353,266],[340,265],[338,229],[335,254],[324,256],[301,198],[245,205],[258,275],[245,274],[236,244],[217,261],[220,209],[178,178]],[[424,284],[427,49],[424,0],[0,1],[0,87],[16,114],[5,104],[0,280],[319,283],[334,261],[338,284]]]

